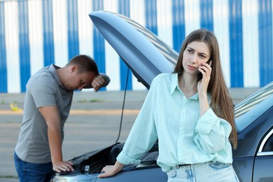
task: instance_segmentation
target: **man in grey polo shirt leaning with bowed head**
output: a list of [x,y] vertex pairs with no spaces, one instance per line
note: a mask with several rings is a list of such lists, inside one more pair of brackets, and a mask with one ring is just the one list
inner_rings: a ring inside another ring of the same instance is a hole
[[73,90],[92,87],[97,92],[109,82],[86,55],[73,57],[62,68],[46,66],[29,78],[14,154],[20,181],[49,181],[54,171],[73,171],[73,164],[62,158],[63,129]]

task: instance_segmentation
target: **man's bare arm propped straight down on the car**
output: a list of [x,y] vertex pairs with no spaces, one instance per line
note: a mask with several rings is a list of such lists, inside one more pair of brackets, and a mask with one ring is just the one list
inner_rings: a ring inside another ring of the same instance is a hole
[[53,170],[56,172],[73,171],[72,163],[62,160],[61,120],[57,106],[43,106],[38,109],[48,125],[48,143]]

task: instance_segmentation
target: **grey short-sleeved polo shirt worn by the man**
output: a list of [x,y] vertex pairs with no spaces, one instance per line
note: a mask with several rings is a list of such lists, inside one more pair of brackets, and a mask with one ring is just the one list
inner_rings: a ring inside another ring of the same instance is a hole
[[69,116],[73,91],[66,90],[59,81],[56,69],[51,64],[35,73],[27,82],[24,115],[18,144],[15,152],[25,162],[51,162],[48,144],[48,127],[41,113],[42,106],[57,106],[62,123],[62,140],[64,139],[64,123]]

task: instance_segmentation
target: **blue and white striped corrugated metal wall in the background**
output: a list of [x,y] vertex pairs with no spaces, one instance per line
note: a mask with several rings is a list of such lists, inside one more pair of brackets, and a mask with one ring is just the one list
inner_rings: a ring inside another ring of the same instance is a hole
[[[127,66],[88,13],[109,10],[148,27],[179,52],[194,29],[216,34],[229,87],[273,80],[272,0],[32,0],[0,1],[0,92],[25,92],[29,76],[71,57],[94,57],[111,77],[106,90],[125,89]],[[130,72],[129,90],[144,90]]]

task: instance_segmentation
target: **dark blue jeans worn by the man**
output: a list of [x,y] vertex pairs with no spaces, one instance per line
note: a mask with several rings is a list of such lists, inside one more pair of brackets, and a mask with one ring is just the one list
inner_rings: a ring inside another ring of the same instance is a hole
[[20,182],[50,181],[51,176],[55,174],[51,162],[45,164],[25,162],[18,158],[16,153],[14,153],[14,162]]

